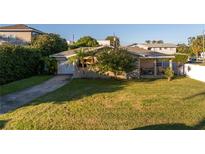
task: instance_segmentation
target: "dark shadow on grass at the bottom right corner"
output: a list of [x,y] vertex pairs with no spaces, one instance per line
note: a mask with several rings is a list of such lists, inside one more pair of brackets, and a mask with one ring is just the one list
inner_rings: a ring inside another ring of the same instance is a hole
[[158,125],[149,125],[144,127],[134,128],[132,130],[201,130],[205,129],[205,119],[200,121],[195,126],[187,126],[182,123],[175,124],[158,124]]

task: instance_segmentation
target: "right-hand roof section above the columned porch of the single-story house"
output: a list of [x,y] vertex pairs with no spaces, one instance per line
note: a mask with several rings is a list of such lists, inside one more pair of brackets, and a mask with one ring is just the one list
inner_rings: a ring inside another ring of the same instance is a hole
[[139,56],[141,58],[175,58],[173,55],[167,55],[160,52],[150,51],[139,47],[126,48],[129,53]]

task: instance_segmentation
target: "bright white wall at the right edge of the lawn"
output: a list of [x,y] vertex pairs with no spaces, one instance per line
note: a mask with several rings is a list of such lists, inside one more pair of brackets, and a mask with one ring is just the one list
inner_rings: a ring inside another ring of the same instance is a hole
[[192,79],[205,82],[205,66],[185,64],[184,72],[188,77]]

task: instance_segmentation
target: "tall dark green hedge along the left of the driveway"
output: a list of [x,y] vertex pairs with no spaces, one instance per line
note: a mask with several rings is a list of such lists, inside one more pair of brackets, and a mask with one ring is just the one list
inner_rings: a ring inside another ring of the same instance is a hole
[[41,55],[41,52],[35,48],[1,45],[0,85],[41,73],[43,70]]

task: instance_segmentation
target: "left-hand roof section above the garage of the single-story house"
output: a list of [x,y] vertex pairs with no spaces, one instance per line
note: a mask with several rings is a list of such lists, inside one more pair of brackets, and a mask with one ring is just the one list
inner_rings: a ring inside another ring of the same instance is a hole
[[68,50],[68,51],[59,52],[59,53],[51,55],[50,57],[54,57],[54,58],[69,58],[69,57],[75,56],[77,51],[79,51],[79,50],[83,50],[85,52],[88,52],[88,51],[94,51],[94,50],[102,49],[104,47],[105,46],[100,46],[100,47],[81,47],[81,48],[77,48],[77,49],[72,49],[72,50]]

